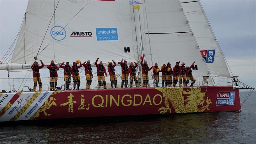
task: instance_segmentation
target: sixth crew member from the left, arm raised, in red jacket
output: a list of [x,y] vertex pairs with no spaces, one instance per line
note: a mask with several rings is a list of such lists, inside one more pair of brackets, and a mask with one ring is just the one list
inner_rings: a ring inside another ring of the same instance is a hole
[[[99,82],[98,88],[100,89],[101,80],[102,80],[104,89],[107,89],[106,80],[105,80],[105,76],[104,76],[104,73],[106,76],[108,76],[107,72],[106,72],[106,68],[103,66],[102,61],[100,61],[100,64],[98,65],[97,64],[98,60],[99,60],[99,58],[97,58],[97,60],[95,61],[95,65],[97,67],[98,82]],[[104,71],[104,73],[103,73],[103,71]]]

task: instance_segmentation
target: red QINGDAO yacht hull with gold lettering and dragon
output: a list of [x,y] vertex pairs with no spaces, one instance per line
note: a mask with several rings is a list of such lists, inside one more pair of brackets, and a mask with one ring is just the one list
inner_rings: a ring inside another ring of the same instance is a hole
[[241,110],[239,92],[231,86],[23,92],[19,96],[0,105],[0,121]]

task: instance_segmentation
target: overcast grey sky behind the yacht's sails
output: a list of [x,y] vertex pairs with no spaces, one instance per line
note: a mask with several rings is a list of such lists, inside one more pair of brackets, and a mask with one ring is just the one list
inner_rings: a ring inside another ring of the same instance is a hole
[[[233,75],[256,87],[256,0],[201,0]],[[0,59],[20,28],[28,0],[0,0]],[[41,73],[41,77],[48,76]],[[25,72],[11,72],[10,77]],[[7,72],[0,70],[0,78]]]

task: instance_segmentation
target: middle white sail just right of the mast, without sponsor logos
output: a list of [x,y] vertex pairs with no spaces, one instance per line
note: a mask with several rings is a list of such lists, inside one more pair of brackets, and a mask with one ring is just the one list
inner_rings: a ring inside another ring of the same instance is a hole
[[[192,35],[178,0],[142,1],[141,25],[146,58],[161,67],[171,62],[185,62],[190,66],[196,61],[195,76],[209,76],[209,70]],[[151,63],[151,61],[150,61]],[[181,63],[180,63],[181,64]]]

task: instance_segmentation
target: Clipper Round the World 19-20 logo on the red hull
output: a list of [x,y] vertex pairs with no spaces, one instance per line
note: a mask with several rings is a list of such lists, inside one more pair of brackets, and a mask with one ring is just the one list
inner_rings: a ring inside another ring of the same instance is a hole
[[218,92],[216,106],[234,105],[235,92]]

